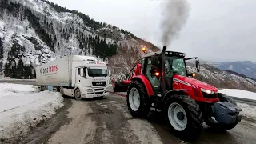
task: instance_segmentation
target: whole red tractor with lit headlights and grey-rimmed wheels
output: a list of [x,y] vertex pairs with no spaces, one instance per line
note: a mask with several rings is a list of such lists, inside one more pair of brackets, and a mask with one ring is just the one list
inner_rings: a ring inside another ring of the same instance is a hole
[[[218,89],[188,74],[184,53],[162,51],[145,54],[126,78],[127,105],[134,118],[145,118],[150,108],[162,111],[174,134],[198,136],[202,122],[216,130],[230,130],[241,121],[241,108]],[[196,134],[196,135],[195,135]]]

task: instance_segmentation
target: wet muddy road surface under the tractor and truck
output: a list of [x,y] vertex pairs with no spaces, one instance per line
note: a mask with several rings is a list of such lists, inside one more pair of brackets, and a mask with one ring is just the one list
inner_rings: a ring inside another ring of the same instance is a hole
[[[90,101],[66,98],[66,101],[69,108],[46,126],[39,126],[23,143],[187,143],[170,134],[158,115],[147,120],[132,118],[126,98],[118,95]],[[243,120],[226,134],[216,134],[205,126],[195,143],[252,144],[256,142],[255,133],[255,121],[251,119]]]

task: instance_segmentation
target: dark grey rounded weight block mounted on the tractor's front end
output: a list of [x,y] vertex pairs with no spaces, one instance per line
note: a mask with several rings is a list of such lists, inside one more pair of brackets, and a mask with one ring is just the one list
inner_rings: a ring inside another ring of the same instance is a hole
[[216,102],[213,106],[214,118],[223,124],[237,124],[241,121],[242,109],[230,102]]

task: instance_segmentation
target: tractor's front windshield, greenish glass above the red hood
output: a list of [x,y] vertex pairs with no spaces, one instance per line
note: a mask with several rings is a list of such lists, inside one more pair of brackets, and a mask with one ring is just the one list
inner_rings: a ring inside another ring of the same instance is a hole
[[166,57],[166,78],[172,78],[174,74],[186,76],[186,65],[182,58]]

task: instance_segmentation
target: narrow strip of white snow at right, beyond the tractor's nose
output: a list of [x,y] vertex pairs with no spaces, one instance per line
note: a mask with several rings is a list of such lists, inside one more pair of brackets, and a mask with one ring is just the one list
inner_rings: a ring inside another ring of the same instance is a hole
[[238,89],[224,89],[224,90],[218,90],[222,94],[226,94],[230,97],[236,97],[236,98],[246,98],[246,99],[252,99],[256,100],[256,93],[246,91],[246,90],[238,90]]

